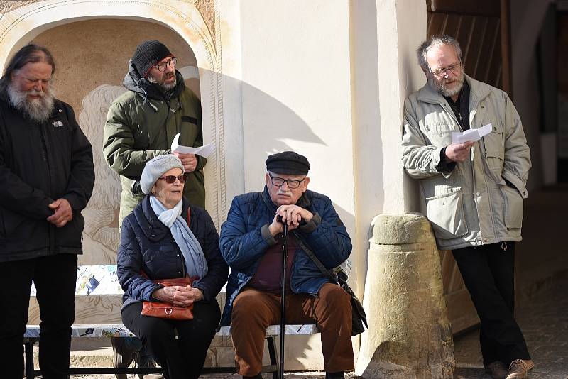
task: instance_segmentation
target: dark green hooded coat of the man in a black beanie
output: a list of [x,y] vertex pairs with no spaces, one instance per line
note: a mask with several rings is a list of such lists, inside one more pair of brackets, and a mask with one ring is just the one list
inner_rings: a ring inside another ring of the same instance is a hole
[[[144,197],[138,180],[148,160],[171,153],[173,138],[180,132],[180,145],[203,145],[201,103],[185,88],[181,74],[176,71],[178,84],[168,99],[130,67],[124,78],[129,92],[111,104],[103,136],[104,158],[121,180],[119,226]],[[204,207],[203,167],[207,160],[200,155],[196,158],[197,168],[187,178],[183,194],[191,204]]]

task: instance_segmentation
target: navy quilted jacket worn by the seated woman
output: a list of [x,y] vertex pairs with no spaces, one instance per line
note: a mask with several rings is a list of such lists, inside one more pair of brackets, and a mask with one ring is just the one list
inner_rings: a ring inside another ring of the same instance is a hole
[[[221,253],[219,235],[211,216],[205,209],[190,205],[183,198],[182,217],[187,220],[187,208],[191,210],[190,229],[199,241],[207,266],[207,275],[195,283],[203,291],[203,301],[212,301],[226,283],[229,272]],[[143,270],[148,278],[141,275]],[[133,302],[154,300],[152,292],[162,287],[152,280],[183,278],[185,261],[175,243],[170,228],[162,224],[146,196],[122,223],[119,256],[116,269],[124,290],[123,309]]]

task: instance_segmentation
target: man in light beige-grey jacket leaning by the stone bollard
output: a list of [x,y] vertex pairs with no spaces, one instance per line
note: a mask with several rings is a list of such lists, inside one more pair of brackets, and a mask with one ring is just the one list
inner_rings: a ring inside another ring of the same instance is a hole
[[[506,92],[464,74],[453,38],[426,40],[417,57],[427,84],[405,101],[403,166],[420,180],[437,245],[452,250],[475,304],[486,371],[525,378],[534,365],[513,316],[530,169],[523,126]],[[452,143],[452,132],[488,124],[479,141]]]

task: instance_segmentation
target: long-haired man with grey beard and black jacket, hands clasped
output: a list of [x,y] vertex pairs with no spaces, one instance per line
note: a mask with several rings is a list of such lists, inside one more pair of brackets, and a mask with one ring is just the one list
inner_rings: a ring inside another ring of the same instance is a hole
[[19,50],[0,79],[0,356],[23,377],[32,280],[40,305],[40,370],[67,378],[82,209],[92,194],[92,147],[69,104],[55,99],[53,56]]

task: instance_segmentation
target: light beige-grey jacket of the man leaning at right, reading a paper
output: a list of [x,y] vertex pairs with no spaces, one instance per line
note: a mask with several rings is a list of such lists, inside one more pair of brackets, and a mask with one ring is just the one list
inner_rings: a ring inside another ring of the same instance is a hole
[[530,149],[515,106],[501,89],[468,76],[466,80],[470,128],[491,123],[493,130],[452,171],[437,170],[442,148],[452,143],[452,131],[461,131],[446,99],[425,84],[405,101],[403,166],[420,180],[440,249],[520,241],[528,195]]

